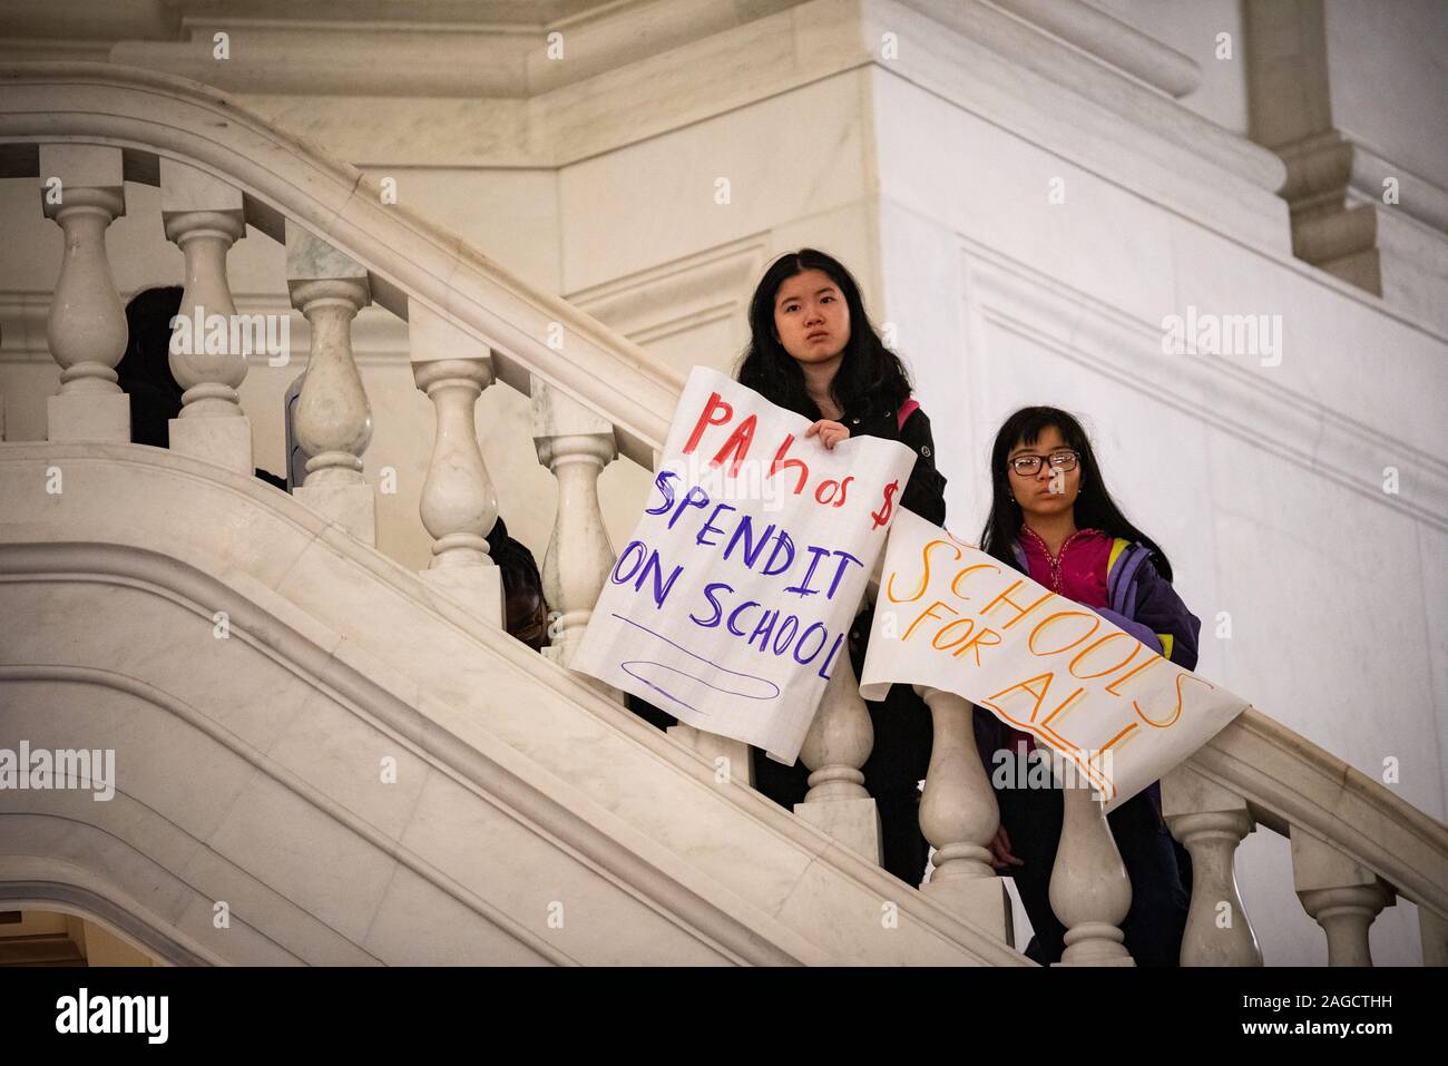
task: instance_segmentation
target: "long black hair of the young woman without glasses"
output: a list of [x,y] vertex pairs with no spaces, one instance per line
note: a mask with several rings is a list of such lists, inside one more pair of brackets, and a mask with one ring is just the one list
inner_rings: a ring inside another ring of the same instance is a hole
[[830,390],[835,403],[844,411],[870,406],[899,410],[911,394],[905,365],[885,346],[870,324],[864,303],[860,300],[860,287],[850,271],[833,255],[814,248],[801,248],[798,252],[779,256],[754,287],[754,295],[749,301],[750,342],[734,377],[770,403],[811,420],[821,417],[820,407],[805,391],[804,371],[775,336],[775,297],[779,295],[779,287],[796,274],[811,269],[830,275],[850,310],[850,342],[844,346],[844,358]]

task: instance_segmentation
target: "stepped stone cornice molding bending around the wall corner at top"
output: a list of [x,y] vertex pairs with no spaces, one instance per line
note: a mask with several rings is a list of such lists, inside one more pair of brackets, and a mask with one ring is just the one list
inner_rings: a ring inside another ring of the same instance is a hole
[[[281,9],[248,20],[191,0],[194,43],[120,41],[110,58],[222,85],[352,162],[411,167],[563,167],[877,68],[1206,224],[1286,246],[1270,196],[1281,162],[1171,98],[1189,59],[1080,0],[1011,1],[1038,22],[986,0],[579,3],[560,23],[559,62],[542,26],[517,22],[371,25]],[[236,33],[224,64],[203,36],[222,17]],[[883,55],[886,33],[898,55]],[[0,42],[0,58],[19,54]]]

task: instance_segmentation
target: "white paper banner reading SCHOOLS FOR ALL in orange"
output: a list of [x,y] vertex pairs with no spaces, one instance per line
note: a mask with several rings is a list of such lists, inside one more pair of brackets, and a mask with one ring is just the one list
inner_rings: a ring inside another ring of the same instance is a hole
[[882,700],[891,682],[956,692],[1030,733],[1106,810],[1247,707],[909,511],[891,530],[860,694]]

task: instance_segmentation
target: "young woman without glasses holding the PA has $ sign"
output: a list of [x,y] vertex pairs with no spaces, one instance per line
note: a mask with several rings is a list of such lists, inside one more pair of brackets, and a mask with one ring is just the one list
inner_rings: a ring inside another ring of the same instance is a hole
[[[915,468],[892,503],[944,524],[946,479],[935,469],[930,419],[911,400],[909,375],[870,324],[850,271],[812,248],[779,256],[754,288],[749,327],[740,384],[809,419],[807,436],[818,436],[824,448],[851,436],[908,445]],[[870,617],[862,614],[850,630],[856,675],[869,633]],[[882,865],[918,885],[928,855],[919,831],[918,782],[930,766],[930,711],[908,685],[893,685],[883,702],[869,708],[875,749],[863,772],[880,813]],[[754,788],[789,810],[805,798],[808,776],[799,762],[780,766],[754,753]]]

